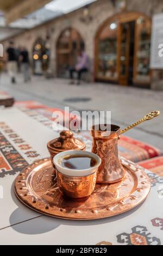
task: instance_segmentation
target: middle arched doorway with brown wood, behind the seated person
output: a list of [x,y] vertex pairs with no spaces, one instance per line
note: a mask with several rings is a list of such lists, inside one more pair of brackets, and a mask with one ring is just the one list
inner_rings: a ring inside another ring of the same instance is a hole
[[63,31],[57,41],[57,75],[68,77],[68,69],[74,66],[78,51],[84,48],[84,41],[74,28]]

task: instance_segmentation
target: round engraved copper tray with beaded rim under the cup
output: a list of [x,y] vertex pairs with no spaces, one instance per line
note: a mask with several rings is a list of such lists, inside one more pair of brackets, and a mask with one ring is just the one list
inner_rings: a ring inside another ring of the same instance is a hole
[[129,211],[145,200],[151,182],[142,167],[122,160],[125,178],[115,184],[96,184],[90,197],[61,196],[50,159],[35,162],[15,180],[15,193],[22,203],[42,214],[71,220],[95,220]]

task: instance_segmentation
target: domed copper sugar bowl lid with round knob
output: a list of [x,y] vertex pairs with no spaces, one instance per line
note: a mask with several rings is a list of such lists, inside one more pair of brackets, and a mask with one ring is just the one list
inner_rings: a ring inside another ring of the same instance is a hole
[[73,136],[72,131],[61,131],[60,137],[49,141],[47,144],[49,152],[58,154],[65,150],[85,150],[85,144]]

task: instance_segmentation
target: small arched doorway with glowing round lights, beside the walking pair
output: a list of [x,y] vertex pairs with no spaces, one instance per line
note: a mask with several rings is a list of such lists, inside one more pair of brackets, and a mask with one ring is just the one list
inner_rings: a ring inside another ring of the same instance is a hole
[[49,44],[46,40],[38,38],[33,46],[33,71],[35,75],[42,75],[48,69]]

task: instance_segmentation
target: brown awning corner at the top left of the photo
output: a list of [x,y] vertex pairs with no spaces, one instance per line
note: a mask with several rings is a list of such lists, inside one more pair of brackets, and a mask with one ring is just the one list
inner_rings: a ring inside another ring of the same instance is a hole
[[51,0],[0,0],[0,10],[5,13],[7,25],[40,9]]

